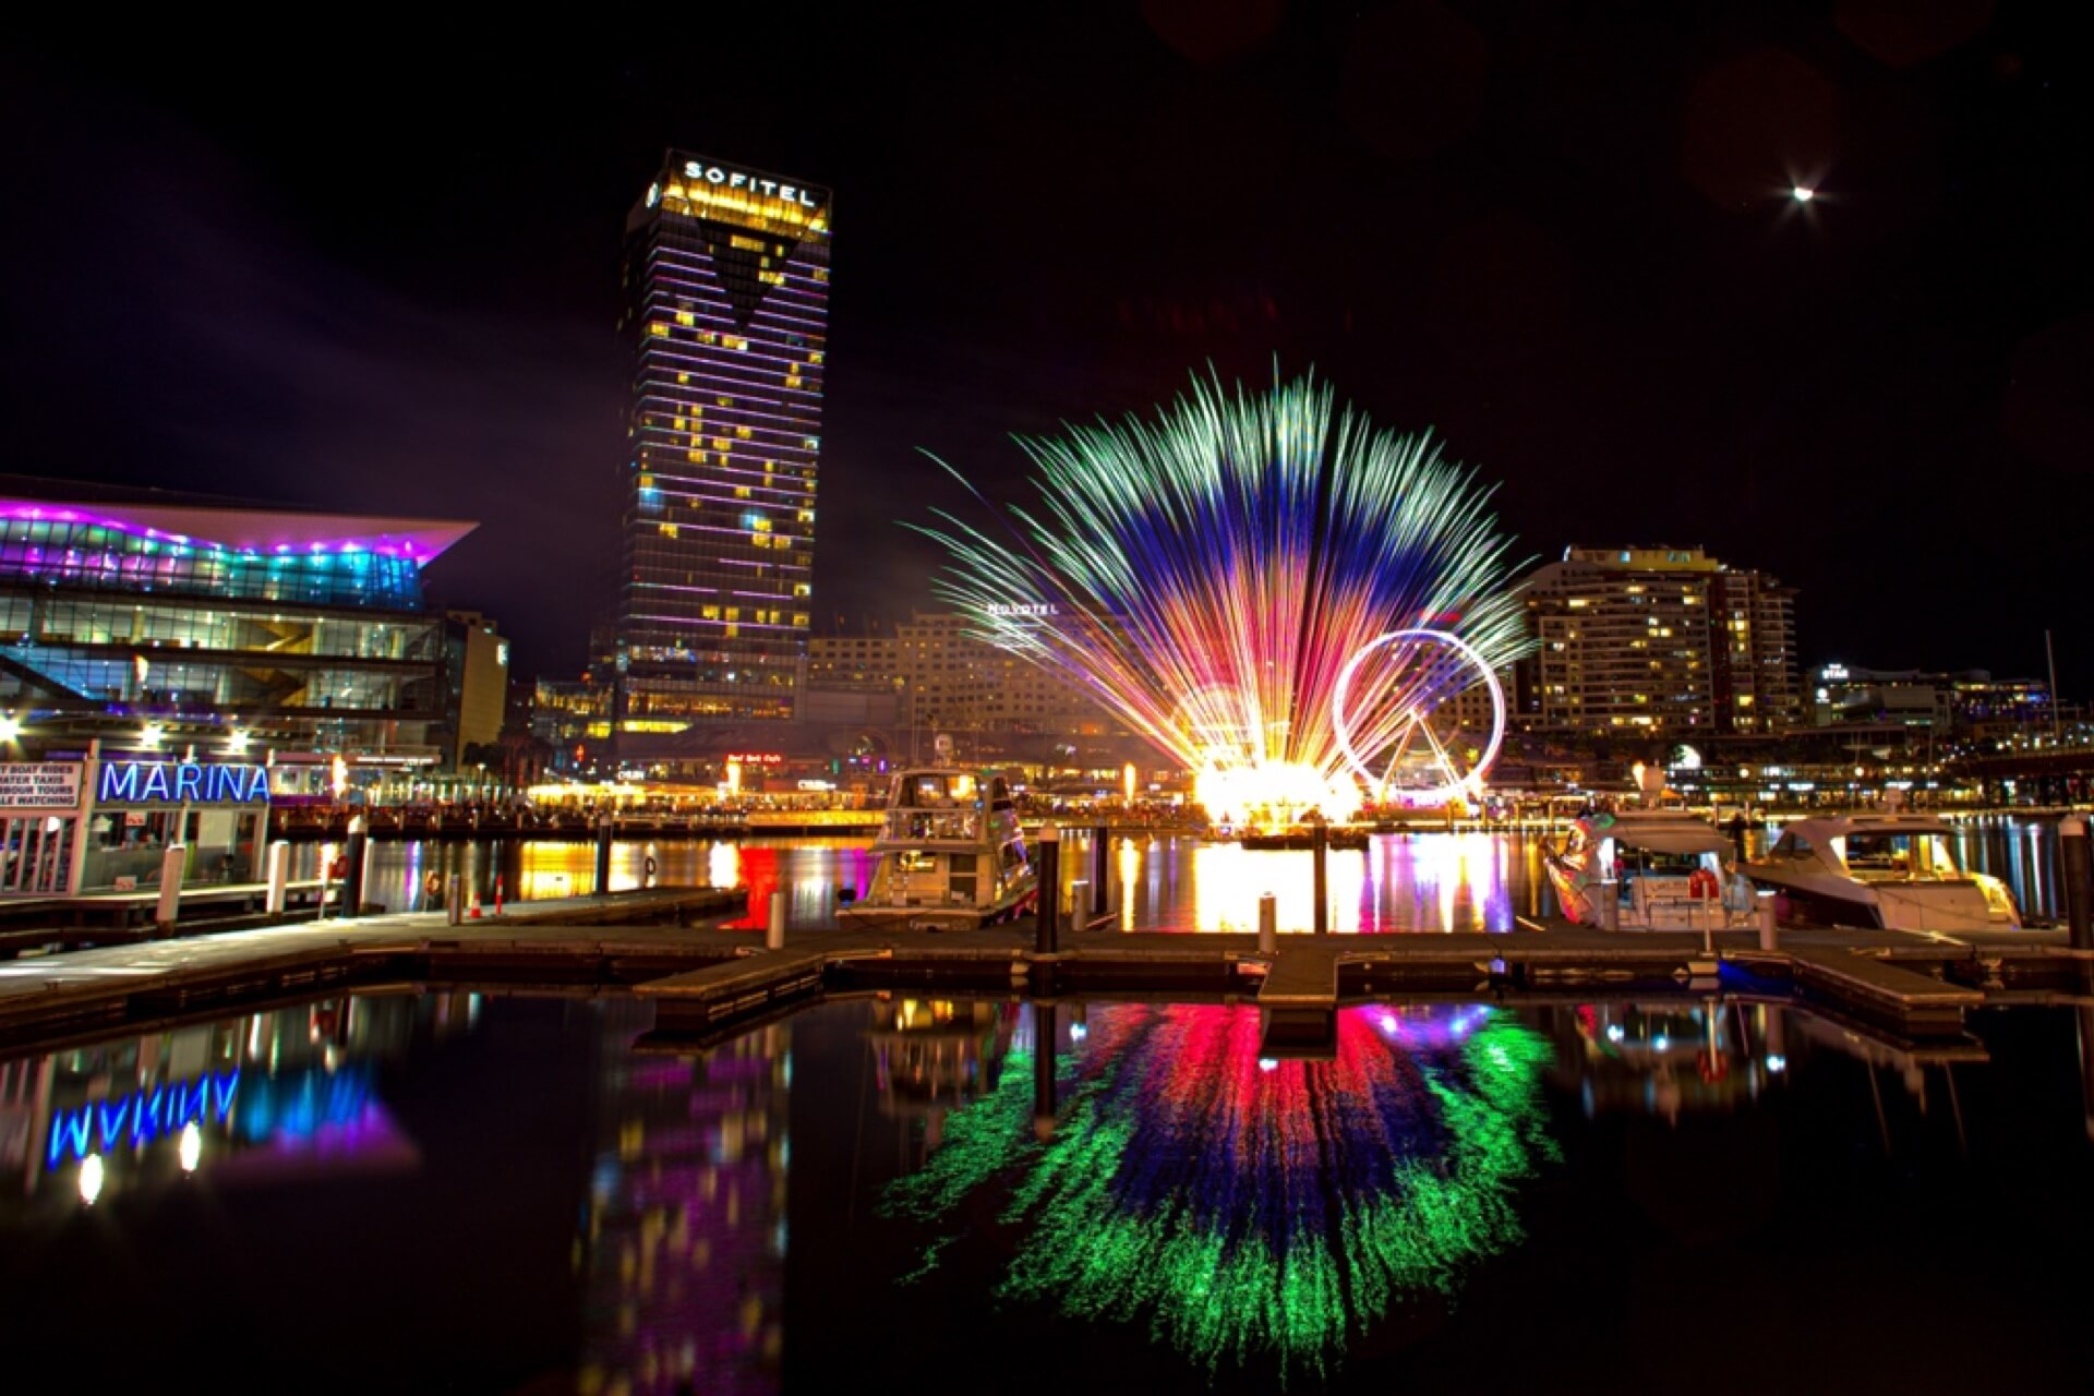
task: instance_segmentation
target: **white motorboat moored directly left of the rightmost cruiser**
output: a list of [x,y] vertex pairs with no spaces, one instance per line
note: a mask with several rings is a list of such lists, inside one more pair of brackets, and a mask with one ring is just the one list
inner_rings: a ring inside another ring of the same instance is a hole
[[1688,810],[1591,812],[1570,820],[1541,862],[1564,919],[1633,931],[1684,931],[1742,925],[1751,919],[1744,887],[1723,860],[1732,841]]

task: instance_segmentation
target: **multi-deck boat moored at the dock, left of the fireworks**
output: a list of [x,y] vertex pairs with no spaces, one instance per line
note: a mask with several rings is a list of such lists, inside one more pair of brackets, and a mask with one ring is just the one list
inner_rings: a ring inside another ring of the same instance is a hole
[[863,900],[838,908],[840,923],[972,929],[1037,902],[1039,875],[1009,783],[955,764],[951,737],[938,737],[936,751],[936,764],[894,772],[873,839],[873,881]]

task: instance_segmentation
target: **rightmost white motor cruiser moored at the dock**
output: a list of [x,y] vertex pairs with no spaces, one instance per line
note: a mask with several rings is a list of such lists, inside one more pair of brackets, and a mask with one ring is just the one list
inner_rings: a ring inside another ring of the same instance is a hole
[[1893,802],[1782,829],[1765,858],[1744,864],[1755,887],[1774,892],[1786,925],[1849,925],[1891,931],[2021,929],[2014,894],[1998,877],[1966,873],[1950,825]]

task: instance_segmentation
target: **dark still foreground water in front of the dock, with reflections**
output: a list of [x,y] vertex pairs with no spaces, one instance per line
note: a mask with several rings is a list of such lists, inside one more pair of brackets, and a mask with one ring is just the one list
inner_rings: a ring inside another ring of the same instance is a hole
[[2086,1030],[327,1000],[0,1063],[0,1342],[86,1390],[2084,1390]]

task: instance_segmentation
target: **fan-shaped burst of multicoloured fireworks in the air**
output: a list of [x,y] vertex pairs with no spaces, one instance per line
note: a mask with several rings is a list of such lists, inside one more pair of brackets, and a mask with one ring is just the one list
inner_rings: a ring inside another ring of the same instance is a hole
[[1434,714],[1524,630],[1472,471],[1309,377],[1194,379],[1154,423],[1020,446],[1041,509],[921,527],[951,553],[938,594],[1198,772],[1210,814],[1338,818],[1359,776],[1413,766],[1430,789],[1480,781],[1495,743],[1457,749]]

